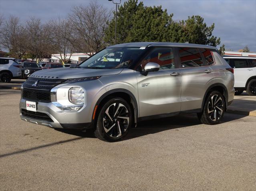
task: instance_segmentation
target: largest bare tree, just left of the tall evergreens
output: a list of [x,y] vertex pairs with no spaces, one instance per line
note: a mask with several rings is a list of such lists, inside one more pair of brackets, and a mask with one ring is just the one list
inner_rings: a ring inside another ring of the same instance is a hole
[[73,8],[68,19],[72,28],[70,42],[76,51],[92,55],[105,46],[103,36],[110,14],[97,1]]

